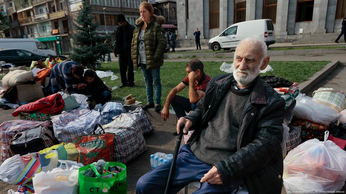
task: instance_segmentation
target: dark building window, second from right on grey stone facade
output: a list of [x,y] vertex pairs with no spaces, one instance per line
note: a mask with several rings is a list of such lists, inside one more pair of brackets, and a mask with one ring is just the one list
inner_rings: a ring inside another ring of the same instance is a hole
[[297,13],[295,22],[312,21],[314,0],[297,0]]

